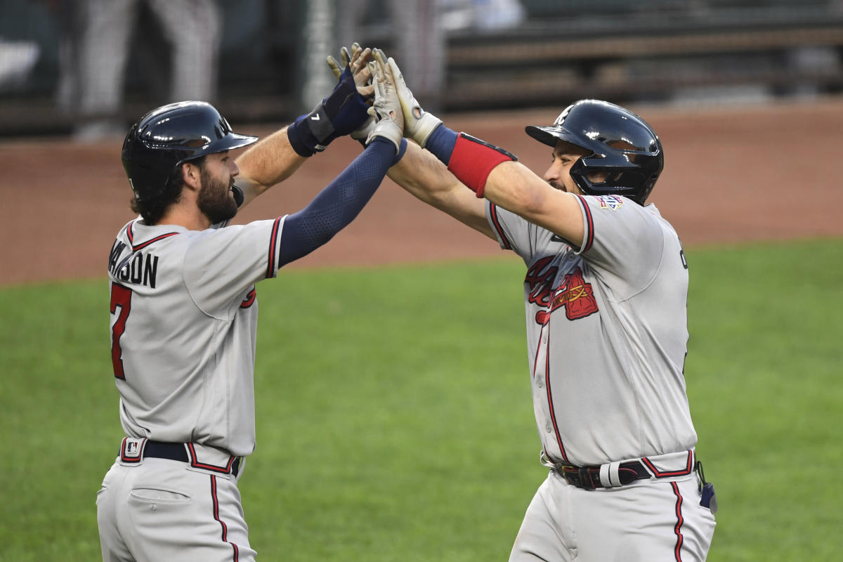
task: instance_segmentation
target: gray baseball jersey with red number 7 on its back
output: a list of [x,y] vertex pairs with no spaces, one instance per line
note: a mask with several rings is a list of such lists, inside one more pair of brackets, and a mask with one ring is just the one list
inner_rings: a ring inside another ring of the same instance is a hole
[[277,275],[285,217],[117,234],[111,358],[127,436],[255,449],[255,282]]

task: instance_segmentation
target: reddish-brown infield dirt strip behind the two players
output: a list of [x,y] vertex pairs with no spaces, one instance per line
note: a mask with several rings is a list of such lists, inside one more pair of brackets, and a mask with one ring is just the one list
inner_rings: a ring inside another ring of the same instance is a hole
[[[444,115],[505,147],[538,174],[550,148],[524,134],[561,108]],[[843,100],[707,109],[631,107],[658,131],[665,168],[650,201],[685,246],[843,236],[840,207]],[[242,127],[266,135],[277,126]],[[280,126],[280,125],[279,125]],[[122,139],[0,142],[0,285],[105,277],[117,230],[131,220],[120,161]],[[236,223],[298,211],[352,161],[360,147],[341,138],[291,179],[244,208]],[[287,267],[364,266],[502,254],[497,244],[385,180],[360,217]]]

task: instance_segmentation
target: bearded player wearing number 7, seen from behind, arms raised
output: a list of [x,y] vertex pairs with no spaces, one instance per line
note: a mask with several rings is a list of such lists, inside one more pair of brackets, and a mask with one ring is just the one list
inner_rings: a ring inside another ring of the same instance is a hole
[[[97,496],[104,560],[255,559],[237,487],[255,450],[255,284],[351,222],[403,154],[391,71],[363,64],[367,53],[312,113],[236,161],[228,151],[257,139],[203,102],[164,105],[126,136],[140,217],[109,256],[126,437]],[[362,94],[371,90],[370,109]],[[239,206],[369,115],[366,149],[303,210],[226,227]]]

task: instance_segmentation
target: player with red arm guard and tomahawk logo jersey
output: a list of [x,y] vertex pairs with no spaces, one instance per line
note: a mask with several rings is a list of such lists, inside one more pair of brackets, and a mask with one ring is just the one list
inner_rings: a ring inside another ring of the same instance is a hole
[[685,394],[688,265],[647,203],[663,168],[658,136],[629,110],[579,100],[553,125],[526,128],[551,149],[542,179],[422,110],[389,67],[416,142],[389,177],[526,265],[529,383],[549,474],[510,560],[705,559],[716,502]]

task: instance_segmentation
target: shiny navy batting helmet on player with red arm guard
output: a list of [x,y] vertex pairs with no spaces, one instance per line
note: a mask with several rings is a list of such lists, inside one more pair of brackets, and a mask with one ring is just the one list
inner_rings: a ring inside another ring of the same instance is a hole
[[[630,110],[598,99],[580,99],[552,126],[525,131],[551,147],[565,141],[592,152],[571,167],[572,179],[588,195],[626,195],[643,205],[664,167],[662,143],[652,127]],[[604,181],[592,181],[595,172],[605,174]]]

